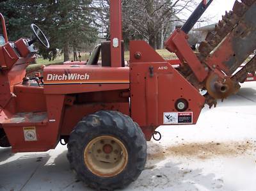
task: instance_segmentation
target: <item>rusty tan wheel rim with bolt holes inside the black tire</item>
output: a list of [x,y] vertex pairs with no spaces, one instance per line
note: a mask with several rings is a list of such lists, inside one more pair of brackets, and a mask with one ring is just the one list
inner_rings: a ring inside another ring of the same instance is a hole
[[124,171],[128,153],[124,144],[112,136],[96,137],[84,149],[84,163],[95,175],[109,178]]

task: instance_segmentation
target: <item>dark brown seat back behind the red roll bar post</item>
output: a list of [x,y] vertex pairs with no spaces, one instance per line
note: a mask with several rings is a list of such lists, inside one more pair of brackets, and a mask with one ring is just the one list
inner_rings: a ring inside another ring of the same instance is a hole
[[[125,66],[124,61],[124,40],[121,42],[122,44],[122,67]],[[102,66],[111,66],[111,42],[104,41],[101,42],[101,59],[102,59]]]

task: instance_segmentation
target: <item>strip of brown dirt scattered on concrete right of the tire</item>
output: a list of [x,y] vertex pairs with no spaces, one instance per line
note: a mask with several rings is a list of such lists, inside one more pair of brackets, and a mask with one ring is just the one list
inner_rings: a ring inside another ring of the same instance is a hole
[[253,141],[243,142],[189,142],[180,143],[168,148],[160,144],[148,144],[148,160],[164,160],[170,157],[200,158],[202,160],[216,156],[237,156],[241,154],[250,155],[250,151],[256,150],[256,143]]

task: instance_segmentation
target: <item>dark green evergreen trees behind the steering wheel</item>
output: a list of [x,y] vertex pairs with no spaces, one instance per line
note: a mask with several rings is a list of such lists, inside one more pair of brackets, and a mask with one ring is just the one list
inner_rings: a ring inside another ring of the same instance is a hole
[[93,20],[90,0],[8,0],[0,3],[0,11],[7,17],[11,40],[30,36],[29,24],[42,28],[51,43],[51,49],[40,48],[44,58],[54,59],[57,49],[69,59],[70,47],[81,49],[82,44],[97,40],[97,28]]

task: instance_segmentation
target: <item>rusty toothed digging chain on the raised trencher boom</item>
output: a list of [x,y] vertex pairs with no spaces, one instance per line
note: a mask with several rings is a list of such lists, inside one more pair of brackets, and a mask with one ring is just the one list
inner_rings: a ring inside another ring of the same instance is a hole
[[[218,22],[213,32],[209,32],[205,38],[205,42],[200,43],[198,59],[201,61],[202,65],[205,65],[207,57],[211,52],[218,47],[218,45],[225,39],[225,37],[237,26],[237,24],[243,19],[243,15],[250,8],[250,6],[255,3],[256,0],[241,0],[236,1],[234,4],[233,10],[225,13],[222,20]],[[242,63],[241,63],[242,64]],[[180,73],[186,77],[195,88],[204,89],[205,84],[198,82],[194,73],[188,68],[188,65],[184,65],[183,68],[180,68]],[[256,71],[256,58],[253,59],[243,67],[234,77],[232,81],[235,82],[236,88],[239,89],[239,82],[244,82],[248,73],[255,73]],[[205,103],[207,103],[210,108],[212,106],[216,107],[217,100],[209,94],[205,95]]]

